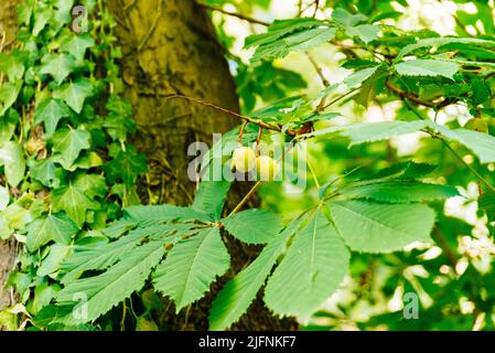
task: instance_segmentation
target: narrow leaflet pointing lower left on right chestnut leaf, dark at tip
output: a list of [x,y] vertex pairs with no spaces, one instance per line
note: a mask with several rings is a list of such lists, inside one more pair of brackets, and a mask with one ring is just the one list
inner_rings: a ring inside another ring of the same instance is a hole
[[225,285],[212,304],[209,330],[226,330],[240,319],[270,275],[287,242],[304,220],[305,217],[301,217],[290,223],[247,268]]

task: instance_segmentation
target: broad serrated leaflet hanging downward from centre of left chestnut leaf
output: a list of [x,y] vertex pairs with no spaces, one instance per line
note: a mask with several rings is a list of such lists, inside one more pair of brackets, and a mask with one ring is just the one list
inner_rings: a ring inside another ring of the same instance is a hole
[[204,228],[170,250],[153,274],[153,286],[174,301],[179,312],[203,298],[229,265],[218,227]]

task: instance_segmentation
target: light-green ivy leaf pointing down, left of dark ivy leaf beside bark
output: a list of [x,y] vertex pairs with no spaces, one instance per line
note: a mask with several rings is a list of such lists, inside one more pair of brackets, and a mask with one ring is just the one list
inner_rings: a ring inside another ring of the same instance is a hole
[[63,128],[53,136],[53,151],[60,153],[64,169],[71,169],[80,151],[92,147],[92,135],[85,130]]

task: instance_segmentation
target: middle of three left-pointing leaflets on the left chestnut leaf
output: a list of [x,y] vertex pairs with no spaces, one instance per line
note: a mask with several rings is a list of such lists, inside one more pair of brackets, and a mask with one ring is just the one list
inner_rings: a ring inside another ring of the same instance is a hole
[[[138,222],[133,227],[138,226]],[[125,259],[143,239],[165,238],[190,232],[193,224],[152,224],[130,231],[116,242],[105,245],[76,246],[71,257],[62,264],[62,284],[67,285],[87,270],[104,270]]]

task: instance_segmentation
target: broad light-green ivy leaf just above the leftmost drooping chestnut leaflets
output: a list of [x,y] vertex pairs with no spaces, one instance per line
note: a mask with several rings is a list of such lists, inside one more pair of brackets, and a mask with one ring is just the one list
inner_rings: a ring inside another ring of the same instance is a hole
[[71,244],[71,238],[77,234],[77,225],[65,214],[56,213],[35,220],[26,226],[28,249],[34,253],[51,240]]

